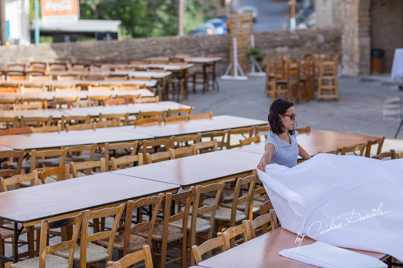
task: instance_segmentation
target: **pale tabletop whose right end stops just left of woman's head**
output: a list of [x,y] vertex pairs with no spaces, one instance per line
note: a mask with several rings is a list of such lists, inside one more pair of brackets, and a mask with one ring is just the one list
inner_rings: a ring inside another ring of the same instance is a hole
[[172,135],[185,135],[198,132],[266,125],[266,123],[267,122],[263,120],[236,117],[232,115],[217,115],[212,117],[212,119],[192,119],[160,124],[138,125],[135,129],[139,133],[162,138],[170,137]]

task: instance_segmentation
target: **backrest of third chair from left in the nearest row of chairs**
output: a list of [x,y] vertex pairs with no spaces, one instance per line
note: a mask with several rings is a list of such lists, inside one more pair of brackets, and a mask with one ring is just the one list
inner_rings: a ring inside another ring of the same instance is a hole
[[[151,238],[152,238],[152,231],[154,229],[154,225],[157,219],[158,210],[160,209],[160,205],[162,202],[164,194],[160,193],[158,196],[149,196],[147,198],[141,198],[140,200],[134,201],[129,200],[127,201],[127,213],[126,213],[126,220],[125,220],[125,238],[123,239],[123,255],[129,254],[129,239],[130,234],[135,233],[138,231],[147,231],[147,244],[151,245]],[[141,211],[141,208],[150,207],[148,209],[148,213],[144,213]],[[131,227],[132,217],[133,217],[133,209],[137,209],[137,215],[147,214],[149,216],[148,221],[137,222],[136,225]]]

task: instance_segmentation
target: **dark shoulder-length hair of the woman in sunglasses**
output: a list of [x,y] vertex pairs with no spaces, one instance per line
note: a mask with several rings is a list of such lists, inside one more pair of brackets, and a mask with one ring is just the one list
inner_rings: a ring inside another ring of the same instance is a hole
[[[290,108],[291,106],[294,106],[292,102],[289,102],[288,100],[282,98],[274,100],[274,102],[270,105],[269,115],[267,116],[267,119],[270,124],[270,129],[273,133],[276,133],[277,135],[284,133],[284,126],[283,123],[281,123],[280,115],[287,113],[288,108]],[[295,130],[289,130],[288,133],[290,135],[294,135]]]

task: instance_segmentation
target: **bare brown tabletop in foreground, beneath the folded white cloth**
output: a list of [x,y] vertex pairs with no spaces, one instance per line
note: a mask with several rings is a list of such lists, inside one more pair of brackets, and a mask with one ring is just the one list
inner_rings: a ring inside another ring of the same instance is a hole
[[[266,267],[287,267],[287,268],[308,268],[316,267],[303,262],[285,258],[278,255],[278,252],[286,248],[295,248],[299,242],[295,242],[297,237],[295,233],[291,233],[281,227],[270,231],[264,235],[260,235],[255,239],[247,241],[241,245],[237,245],[230,250],[217,254],[207,260],[199,262],[198,266],[209,268],[222,267],[248,267],[248,268],[266,268]],[[302,245],[310,245],[315,240],[304,237],[301,241]],[[348,249],[347,250],[352,250]],[[363,250],[352,250],[361,254],[372,256],[379,260],[388,258],[388,255]]]

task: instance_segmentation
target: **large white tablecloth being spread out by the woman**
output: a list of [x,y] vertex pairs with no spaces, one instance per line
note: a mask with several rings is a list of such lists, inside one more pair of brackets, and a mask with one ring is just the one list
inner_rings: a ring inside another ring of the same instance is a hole
[[319,153],[258,175],[284,229],[403,261],[403,159]]

